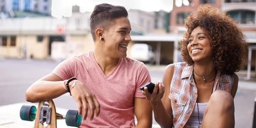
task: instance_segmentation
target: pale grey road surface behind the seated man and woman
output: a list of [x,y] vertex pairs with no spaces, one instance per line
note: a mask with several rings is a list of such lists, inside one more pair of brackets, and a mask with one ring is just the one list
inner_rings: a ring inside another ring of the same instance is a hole
[[[45,76],[59,62],[51,60],[4,59],[0,60],[0,106],[26,102],[26,89],[36,80]],[[153,82],[162,79],[164,66],[148,66]],[[256,96],[255,83],[239,81],[235,101],[235,128],[251,128],[253,107]],[[246,86],[246,87],[245,87]],[[54,99],[59,108],[76,109],[76,103],[69,94]],[[156,122],[154,121],[154,124]]]

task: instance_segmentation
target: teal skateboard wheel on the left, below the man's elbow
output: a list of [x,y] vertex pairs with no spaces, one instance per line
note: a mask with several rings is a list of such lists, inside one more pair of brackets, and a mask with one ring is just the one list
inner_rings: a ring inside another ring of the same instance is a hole
[[36,115],[36,108],[32,105],[22,105],[20,108],[20,119],[33,121]]

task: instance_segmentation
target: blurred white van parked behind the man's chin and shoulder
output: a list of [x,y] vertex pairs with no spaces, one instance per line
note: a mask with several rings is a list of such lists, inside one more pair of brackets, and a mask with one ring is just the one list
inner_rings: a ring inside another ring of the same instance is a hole
[[131,58],[143,62],[153,62],[154,53],[148,44],[133,44],[131,46]]

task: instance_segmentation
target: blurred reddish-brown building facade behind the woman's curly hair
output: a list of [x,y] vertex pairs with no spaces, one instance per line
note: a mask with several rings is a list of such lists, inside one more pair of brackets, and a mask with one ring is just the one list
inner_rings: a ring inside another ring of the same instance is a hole
[[[174,0],[176,2],[182,0]],[[169,31],[172,34],[183,35],[186,31],[184,20],[189,14],[195,15],[195,12],[201,4],[211,4],[227,12],[238,23],[239,27],[246,36],[248,46],[256,45],[256,0],[189,0],[189,6],[183,4],[179,7],[174,6],[170,14]],[[256,65],[256,54],[252,53],[252,64]],[[247,62],[247,58],[245,60]],[[244,64],[244,68],[247,63]],[[256,67],[252,67],[253,69]]]

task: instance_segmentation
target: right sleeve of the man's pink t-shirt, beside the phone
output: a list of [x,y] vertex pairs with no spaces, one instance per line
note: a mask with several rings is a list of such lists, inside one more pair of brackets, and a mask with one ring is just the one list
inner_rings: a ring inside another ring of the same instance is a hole
[[140,72],[137,73],[136,91],[134,93],[134,97],[144,98],[145,96],[141,93],[140,87],[150,81],[151,78],[148,68],[145,66],[145,64],[142,64],[140,67]]

